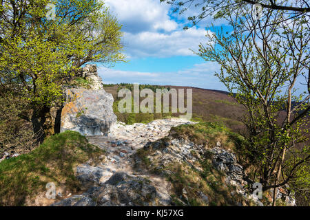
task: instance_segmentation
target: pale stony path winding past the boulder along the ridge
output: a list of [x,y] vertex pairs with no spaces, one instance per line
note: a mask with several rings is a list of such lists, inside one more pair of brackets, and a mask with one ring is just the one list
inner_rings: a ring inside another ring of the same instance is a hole
[[104,184],[115,173],[126,173],[135,177],[144,177],[152,182],[156,188],[156,196],[162,205],[169,205],[169,183],[163,177],[147,173],[146,170],[134,168],[134,154],[147,142],[154,142],[169,134],[172,127],[180,124],[193,124],[188,120],[169,118],[154,120],[149,124],[125,125],[122,122],[114,124],[110,132],[102,136],[87,137],[91,144],[105,150],[107,158],[105,162],[96,166],[81,164],[76,169],[76,175],[85,185],[88,182]]

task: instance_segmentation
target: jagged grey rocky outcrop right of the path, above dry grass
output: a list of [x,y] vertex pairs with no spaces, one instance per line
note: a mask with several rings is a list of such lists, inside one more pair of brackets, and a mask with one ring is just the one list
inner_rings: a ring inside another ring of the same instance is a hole
[[[173,175],[169,169],[165,169],[170,164],[180,164],[180,166],[183,166],[182,164],[185,163],[194,170],[203,172],[200,162],[206,158],[210,158],[214,168],[225,173],[224,184],[236,188],[234,191],[231,191],[231,195],[237,193],[238,195],[242,195],[245,201],[252,202],[256,206],[264,206],[261,199],[253,193],[254,188],[252,186],[254,183],[246,180],[246,173],[242,166],[238,164],[236,155],[231,151],[218,146],[209,148],[185,140],[182,137],[174,138],[170,136],[165,140],[148,142],[145,144],[144,149],[149,153],[147,155],[147,159],[150,162],[149,170],[165,176]],[[135,165],[140,166],[141,163],[141,158],[136,157]],[[198,192],[198,195],[200,195],[200,199],[203,199],[205,203],[209,202],[207,195],[203,195],[203,192]],[[185,192],[183,192],[183,197],[187,197]],[[295,199],[289,195],[289,192],[285,188],[279,188],[277,198],[282,199],[287,206],[296,206]],[[236,206],[242,206],[242,204],[236,203]]]

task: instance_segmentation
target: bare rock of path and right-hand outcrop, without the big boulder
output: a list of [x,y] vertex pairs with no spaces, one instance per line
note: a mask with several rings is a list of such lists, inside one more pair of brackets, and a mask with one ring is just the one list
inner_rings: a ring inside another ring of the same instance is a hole
[[[183,138],[167,137],[172,126],[193,123],[178,118],[155,120],[149,124],[125,125],[116,122],[109,133],[87,137],[91,144],[106,151],[106,157],[100,164],[91,166],[90,161],[79,165],[76,177],[87,187],[87,191],[53,206],[174,206],[172,184],[166,178],[173,173],[165,167],[185,162],[193,169],[202,171],[197,162],[206,155],[211,157],[214,168],[225,173],[227,186],[236,187],[231,195],[238,194],[245,201],[263,206],[252,193],[253,190],[246,187],[251,183],[245,180],[244,170],[233,152],[221,148],[220,143],[208,148]],[[141,166],[143,158],[137,154],[139,149],[152,150],[147,156],[150,162],[148,169]],[[197,195],[205,205],[209,204],[208,195],[201,191]],[[295,205],[286,190],[278,190],[278,197],[290,206]],[[186,199],[178,201],[187,205]],[[235,205],[242,206],[242,203],[236,202]]]

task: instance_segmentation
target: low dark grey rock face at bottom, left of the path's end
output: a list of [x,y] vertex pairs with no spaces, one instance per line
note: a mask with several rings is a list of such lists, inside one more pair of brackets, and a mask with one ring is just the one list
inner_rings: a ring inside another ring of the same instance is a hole
[[147,179],[121,172],[83,195],[63,199],[52,206],[152,206],[155,200],[156,189]]

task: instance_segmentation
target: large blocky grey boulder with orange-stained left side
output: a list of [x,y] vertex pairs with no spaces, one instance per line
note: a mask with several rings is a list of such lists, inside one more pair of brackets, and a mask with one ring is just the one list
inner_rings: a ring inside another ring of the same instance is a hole
[[103,135],[117,118],[113,96],[104,89],[66,89],[61,111],[61,132],[78,131],[85,136]]

